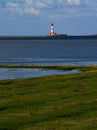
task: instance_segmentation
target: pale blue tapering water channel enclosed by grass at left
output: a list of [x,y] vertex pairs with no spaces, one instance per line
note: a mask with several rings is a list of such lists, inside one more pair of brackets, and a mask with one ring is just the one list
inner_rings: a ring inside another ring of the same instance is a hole
[[46,76],[52,74],[72,74],[79,73],[79,70],[55,70],[55,69],[40,69],[40,68],[0,68],[0,79],[15,79]]

